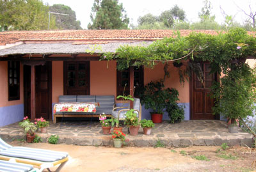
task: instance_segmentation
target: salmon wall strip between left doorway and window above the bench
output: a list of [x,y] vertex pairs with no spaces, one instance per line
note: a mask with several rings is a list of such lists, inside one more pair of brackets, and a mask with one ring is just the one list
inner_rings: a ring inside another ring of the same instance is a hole
[[63,93],[63,61],[52,61],[52,103],[59,102]]

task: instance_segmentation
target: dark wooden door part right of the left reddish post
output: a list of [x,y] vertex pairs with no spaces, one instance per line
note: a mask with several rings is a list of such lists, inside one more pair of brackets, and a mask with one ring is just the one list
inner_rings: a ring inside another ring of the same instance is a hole
[[36,118],[51,118],[51,62],[35,66]]

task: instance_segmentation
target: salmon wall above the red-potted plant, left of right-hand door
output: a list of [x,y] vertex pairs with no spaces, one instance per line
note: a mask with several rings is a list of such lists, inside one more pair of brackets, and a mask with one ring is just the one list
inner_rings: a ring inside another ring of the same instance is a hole
[[[174,67],[172,63],[168,64],[168,72],[170,77],[166,78],[164,81],[164,86],[166,88],[175,88],[179,91],[179,103],[188,103],[189,102],[189,82],[185,79],[185,83],[180,84],[179,71],[178,68]],[[184,62],[186,65],[186,62]],[[184,66],[185,67],[185,66]],[[164,77],[164,64],[159,63],[153,69],[145,68],[144,70],[144,84],[147,84],[150,81],[157,81],[163,79]]]

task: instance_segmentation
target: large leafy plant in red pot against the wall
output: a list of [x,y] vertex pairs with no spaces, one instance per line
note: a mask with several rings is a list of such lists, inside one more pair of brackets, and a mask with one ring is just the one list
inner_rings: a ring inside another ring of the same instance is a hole
[[174,88],[165,88],[163,79],[160,81],[151,81],[145,86],[141,95],[141,102],[145,104],[145,109],[152,109],[151,119],[154,123],[161,123],[166,106],[170,105],[170,100],[176,102],[179,100],[179,92]]

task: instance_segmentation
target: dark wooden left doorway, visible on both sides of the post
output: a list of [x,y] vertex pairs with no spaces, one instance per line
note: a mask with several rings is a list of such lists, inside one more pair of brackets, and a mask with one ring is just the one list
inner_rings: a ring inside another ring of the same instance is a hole
[[[52,118],[51,62],[44,66],[35,66],[35,118],[41,116],[46,120]],[[24,115],[31,118],[30,109],[30,79],[31,66],[24,65]]]

